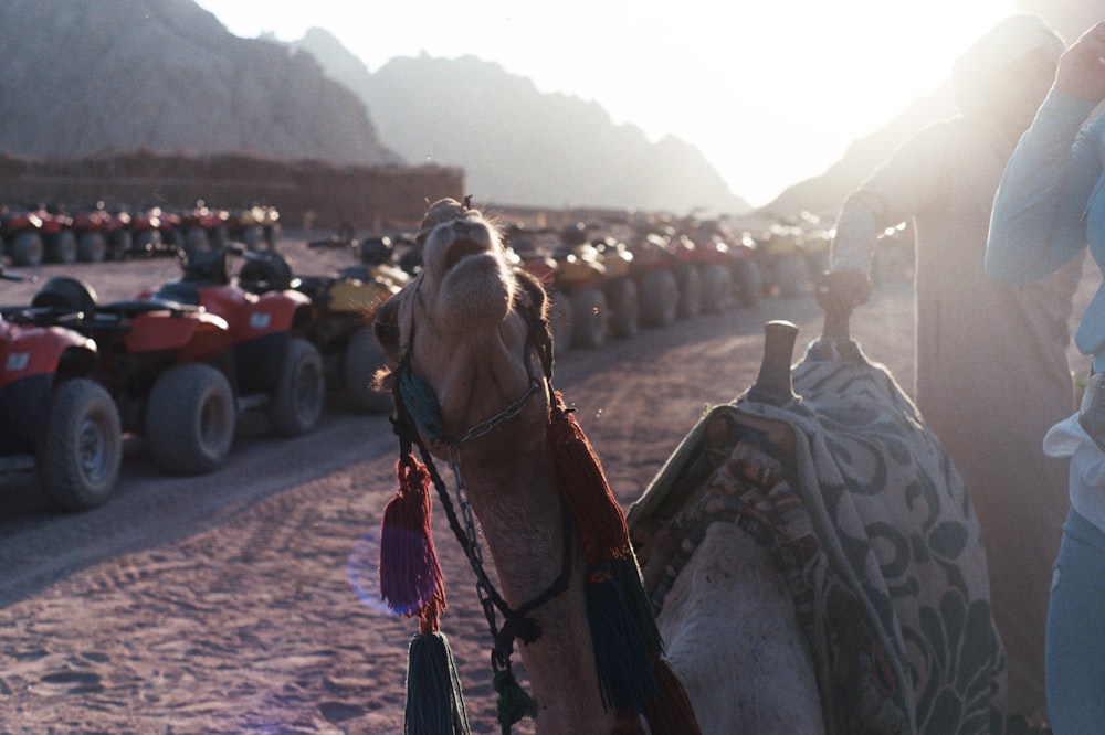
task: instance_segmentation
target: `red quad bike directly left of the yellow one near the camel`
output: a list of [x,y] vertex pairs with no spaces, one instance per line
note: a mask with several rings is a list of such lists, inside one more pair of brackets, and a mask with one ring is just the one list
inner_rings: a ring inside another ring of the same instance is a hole
[[243,288],[231,278],[229,260],[246,254],[235,245],[181,254],[181,278],[139,298],[202,307],[224,319],[239,408],[263,407],[275,434],[298,436],[318,422],[325,398],[322,358],[307,339],[311,298],[292,288]]

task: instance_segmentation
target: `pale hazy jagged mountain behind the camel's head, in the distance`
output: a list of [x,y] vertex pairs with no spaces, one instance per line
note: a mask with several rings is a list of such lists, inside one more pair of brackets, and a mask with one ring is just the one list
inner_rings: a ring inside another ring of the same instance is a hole
[[297,47],[368,106],[380,136],[406,159],[459,166],[480,201],[741,213],[697,148],[651,142],[613,125],[598,104],[540,93],[528,78],[475,56],[393,58],[375,74],[330,33]]

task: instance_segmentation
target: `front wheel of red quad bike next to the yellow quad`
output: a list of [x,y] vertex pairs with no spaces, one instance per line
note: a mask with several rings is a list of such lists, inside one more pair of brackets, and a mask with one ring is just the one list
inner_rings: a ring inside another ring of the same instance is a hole
[[306,434],[318,422],[326,397],[323,359],[315,345],[293,339],[284,353],[269,420],[280,436]]

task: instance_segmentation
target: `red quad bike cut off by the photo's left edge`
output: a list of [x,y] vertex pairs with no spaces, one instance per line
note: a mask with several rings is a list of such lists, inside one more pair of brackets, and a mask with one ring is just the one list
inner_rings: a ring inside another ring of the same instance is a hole
[[[2,265],[0,278],[21,280]],[[63,510],[107,500],[123,460],[115,403],[91,377],[96,342],[67,328],[81,318],[53,307],[0,309],[0,469],[35,469]]]

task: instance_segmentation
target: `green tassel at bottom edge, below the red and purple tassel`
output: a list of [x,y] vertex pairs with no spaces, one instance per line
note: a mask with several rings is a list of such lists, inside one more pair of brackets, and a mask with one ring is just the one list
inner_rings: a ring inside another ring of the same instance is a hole
[[407,667],[407,735],[469,735],[461,680],[442,632],[411,639]]

